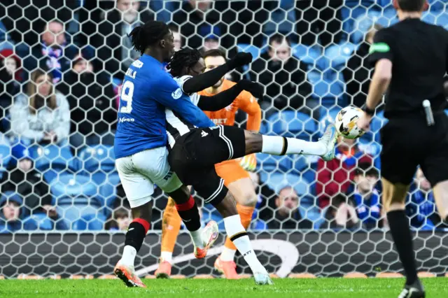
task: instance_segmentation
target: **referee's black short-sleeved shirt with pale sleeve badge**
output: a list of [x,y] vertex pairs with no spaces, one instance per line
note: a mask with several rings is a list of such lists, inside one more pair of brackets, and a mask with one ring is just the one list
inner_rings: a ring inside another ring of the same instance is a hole
[[392,79],[386,94],[384,116],[409,115],[423,111],[428,99],[433,111],[447,107],[444,75],[448,69],[448,31],[408,18],[377,31],[370,47],[370,62],[392,62]]

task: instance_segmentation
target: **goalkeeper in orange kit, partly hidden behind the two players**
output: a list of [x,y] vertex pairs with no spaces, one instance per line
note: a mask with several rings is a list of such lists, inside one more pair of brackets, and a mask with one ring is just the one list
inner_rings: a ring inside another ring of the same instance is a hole
[[[225,64],[225,54],[221,50],[209,50],[204,54],[205,71],[214,69]],[[213,87],[200,92],[200,95],[212,96],[224,90],[228,90],[235,83],[222,78]],[[235,114],[241,109],[248,114],[246,129],[254,132],[260,130],[261,109],[257,100],[248,92],[243,91],[230,106],[220,111],[208,112],[204,111],[209,118],[217,125],[234,125]],[[225,186],[237,200],[237,210],[241,217],[241,224],[245,229],[251,223],[253,209],[257,202],[257,195],[253,190],[251,178],[246,171],[255,170],[257,164],[255,154],[242,157],[240,160],[233,159],[221,164],[216,164],[216,173],[224,179]],[[163,213],[162,220],[162,251],[160,255],[159,268],[155,271],[157,278],[168,278],[172,269],[172,253],[176,243],[177,235],[181,229],[181,218],[176,211],[174,200],[169,198],[167,208]],[[216,259],[215,269],[224,274],[225,278],[239,278],[234,262],[237,248],[230,241],[225,240],[225,248],[223,253]]]

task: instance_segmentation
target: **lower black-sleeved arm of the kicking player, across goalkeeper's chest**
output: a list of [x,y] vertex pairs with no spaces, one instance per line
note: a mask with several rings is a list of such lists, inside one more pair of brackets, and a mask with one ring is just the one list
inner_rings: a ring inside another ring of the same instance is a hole
[[[183,83],[184,86],[185,84],[186,83]],[[237,84],[233,85],[228,90],[219,92],[212,97],[202,95],[199,102],[197,103],[197,106],[201,108],[202,111],[219,111],[221,110],[221,108],[225,108],[226,106],[232,104],[232,102],[239,96],[239,94],[243,90],[262,95],[261,85],[259,85],[258,83],[253,83],[250,80],[240,80]]]

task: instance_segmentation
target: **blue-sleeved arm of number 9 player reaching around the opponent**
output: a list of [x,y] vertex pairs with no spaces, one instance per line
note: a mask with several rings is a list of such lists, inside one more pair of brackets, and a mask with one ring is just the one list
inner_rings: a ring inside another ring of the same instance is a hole
[[171,108],[182,118],[196,127],[212,127],[214,122],[190,101],[190,97],[182,92],[181,87],[169,76],[164,76],[155,83],[155,100]]

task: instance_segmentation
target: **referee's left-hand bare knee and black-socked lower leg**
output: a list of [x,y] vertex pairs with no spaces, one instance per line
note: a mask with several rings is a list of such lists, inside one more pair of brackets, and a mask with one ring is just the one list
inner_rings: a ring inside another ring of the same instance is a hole
[[409,185],[393,184],[385,178],[382,178],[382,183],[384,209],[387,213],[393,243],[406,274],[405,288],[398,298],[424,298],[425,290],[417,276],[412,234],[409,229],[409,219],[405,213],[405,199]]

